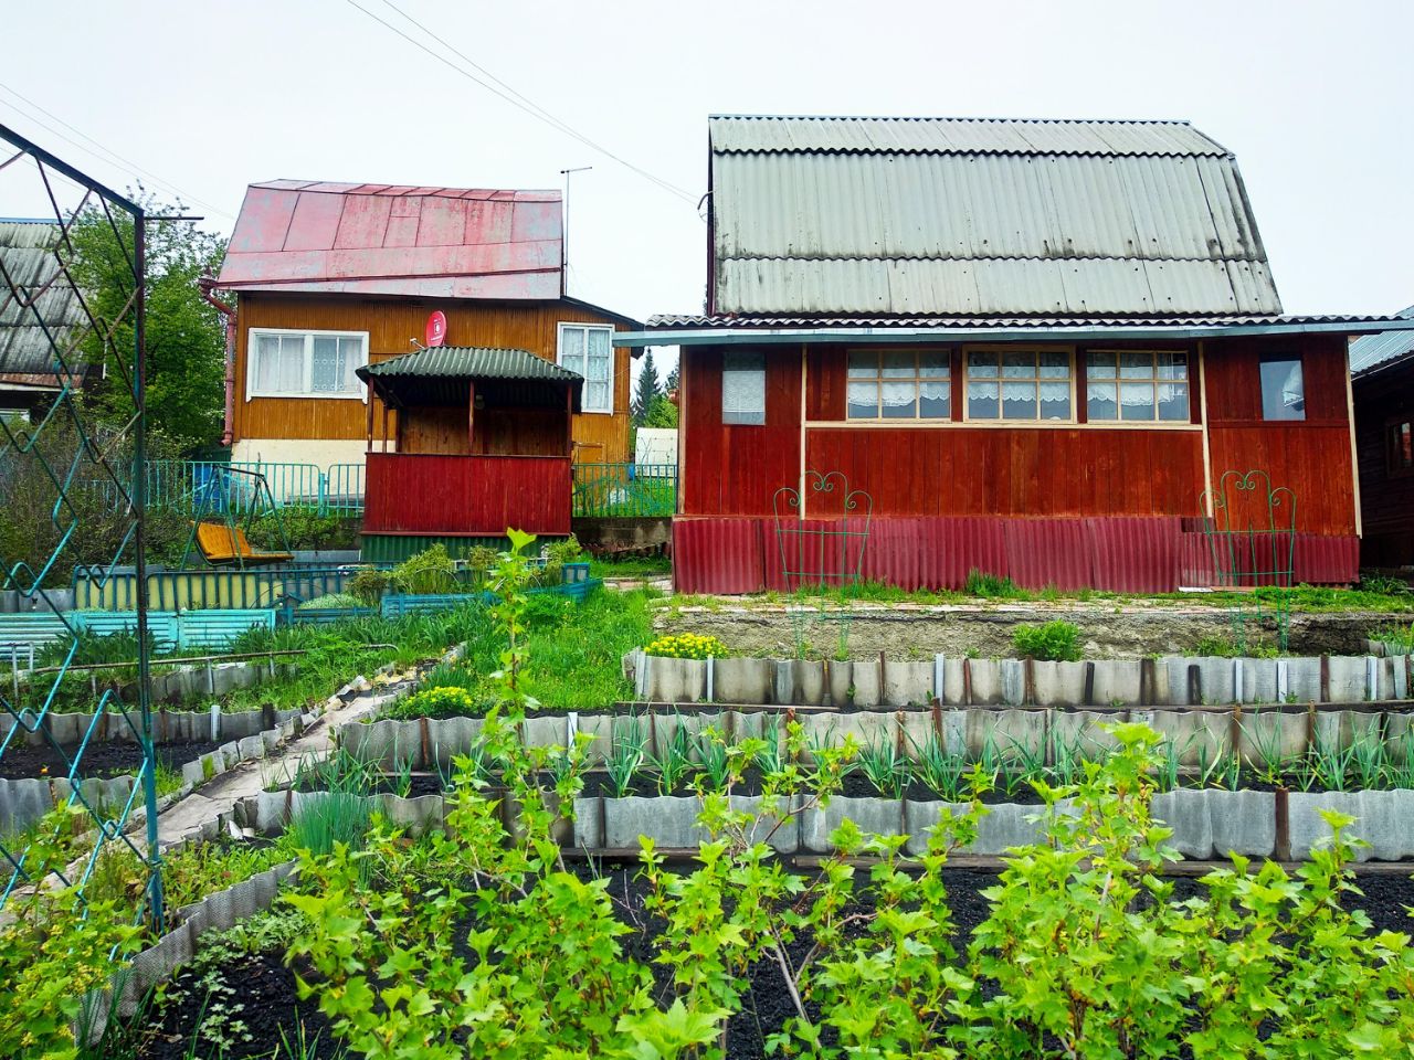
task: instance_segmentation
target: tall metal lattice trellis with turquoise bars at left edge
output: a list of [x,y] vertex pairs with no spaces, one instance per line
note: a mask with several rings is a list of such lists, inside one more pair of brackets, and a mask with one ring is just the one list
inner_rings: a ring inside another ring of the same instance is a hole
[[[37,517],[31,523],[34,540],[0,538],[0,589],[13,594],[20,611],[55,613],[66,636],[57,649],[52,673],[21,670],[17,660],[0,652],[0,765],[7,755],[18,758],[27,746],[45,748],[49,760],[61,763],[62,776],[51,772],[41,801],[52,800],[86,827],[79,828],[82,841],[75,842],[72,861],[41,862],[34,851],[41,848],[41,840],[55,837],[40,830],[54,818],[23,820],[11,813],[8,821],[0,821],[0,905],[18,889],[49,885],[48,876],[82,893],[102,858],[126,848],[139,858],[147,878],[134,914],[150,916],[160,926],[144,555],[147,476],[136,473],[146,464],[147,445],[144,228],[153,218],[139,204],[0,126],[0,215],[33,212],[34,206],[25,209],[33,202],[47,204],[45,216],[25,222],[35,229],[23,240],[23,253],[0,249],[0,349],[27,351],[33,366],[42,369],[30,375],[40,379],[44,394],[28,416],[0,416],[0,490],[6,503],[24,503]],[[95,264],[92,247],[103,249],[105,276],[116,276],[103,298],[83,281],[92,276],[85,269]],[[109,489],[102,506],[88,499],[93,481]],[[102,558],[110,567],[136,568],[137,693],[136,701],[102,693],[89,707],[93,724],[72,739],[75,734],[55,722],[65,698],[61,693],[72,695],[78,684],[71,667],[82,660],[85,633],[64,613],[62,589],[79,550],[92,553],[96,547],[98,529],[89,523],[96,523],[99,513],[106,541]],[[10,673],[3,673],[7,661]],[[105,718],[126,725],[141,750],[136,783],[116,800],[113,789],[96,783],[85,762]],[[139,807],[146,810],[146,842],[130,832]]]

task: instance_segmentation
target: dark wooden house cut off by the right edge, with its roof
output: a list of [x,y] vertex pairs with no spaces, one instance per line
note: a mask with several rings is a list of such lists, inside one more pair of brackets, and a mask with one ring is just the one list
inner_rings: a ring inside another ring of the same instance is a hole
[[[1400,314],[1414,324],[1414,305]],[[1414,565],[1414,331],[1350,343],[1360,458],[1360,561]]]

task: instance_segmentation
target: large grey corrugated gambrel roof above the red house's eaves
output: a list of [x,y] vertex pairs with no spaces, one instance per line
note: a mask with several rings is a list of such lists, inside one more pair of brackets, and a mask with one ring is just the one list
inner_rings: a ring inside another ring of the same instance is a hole
[[714,116],[713,314],[1280,314],[1186,122]]

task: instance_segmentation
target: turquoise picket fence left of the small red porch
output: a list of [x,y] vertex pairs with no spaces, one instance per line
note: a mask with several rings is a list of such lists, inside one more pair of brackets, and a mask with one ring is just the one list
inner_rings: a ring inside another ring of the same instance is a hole
[[[187,513],[243,514],[256,506],[255,485],[246,475],[228,475],[228,469],[264,475],[270,496],[280,507],[312,507],[321,516],[363,512],[363,465],[264,464],[223,461],[148,461],[147,506]],[[90,489],[109,503],[119,502],[112,482],[92,482]]]

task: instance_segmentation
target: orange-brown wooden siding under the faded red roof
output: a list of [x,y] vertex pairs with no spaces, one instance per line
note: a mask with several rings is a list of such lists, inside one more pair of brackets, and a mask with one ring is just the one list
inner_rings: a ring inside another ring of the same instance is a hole
[[[554,360],[560,322],[628,325],[563,302],[498,304],[363,298],[358,295],[240,295],[236,328],[236,390],[233,440],[245,438],[363,438],[368,410],[346,399],[256,397],[246,400],[246,345],[252,328],[297,331],[366,331],[369,358],[385,360],[409,353],[409,339],[423,341],[427,315],[447,314],[447,345],[527,349]],[[375,423],[382,403],[375,401]],[[629,352],[614,355],[614,414],[574,417],[575,459],[621,464],[628,451]]]

